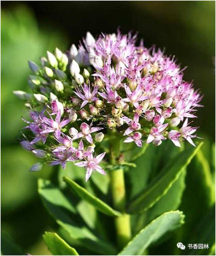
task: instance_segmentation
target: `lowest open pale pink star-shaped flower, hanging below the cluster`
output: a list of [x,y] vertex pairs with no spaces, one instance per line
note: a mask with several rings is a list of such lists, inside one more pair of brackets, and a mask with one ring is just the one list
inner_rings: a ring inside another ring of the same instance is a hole
[[99,165],[99,163],[104,158],[105,154],[106,154],[106,152],[104,152],[96,157],[93,157],[93,155],[90,154],[90,155],[88,155],[86,161],[81,161],[81,162],[75,163],[75,165],[77,165],[79,167],[86,168],[85,181],[87,181],[90,178],[92,172],[94,172],[94,171],[96,171],[100,174],[106,175],[103,168],[101,168]]

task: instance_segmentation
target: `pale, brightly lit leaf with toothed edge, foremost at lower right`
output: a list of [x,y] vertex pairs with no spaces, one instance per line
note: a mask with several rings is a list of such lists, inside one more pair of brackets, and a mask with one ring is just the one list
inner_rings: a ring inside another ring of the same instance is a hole
[[142,253],[166,232],[184,223],[181,211],[165,212],[143,228],[118,255],[142,255]]

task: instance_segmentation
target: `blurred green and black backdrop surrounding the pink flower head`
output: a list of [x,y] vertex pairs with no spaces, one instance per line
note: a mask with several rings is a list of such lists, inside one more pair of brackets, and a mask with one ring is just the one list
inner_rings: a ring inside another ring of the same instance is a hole
[[[195,121],[208,144],[215,140],[215,2],[214,1],[3,1],[1,2],[1,230],[7,252],[48,255],[42,234],[50,218],[37,195],[36,162],[19,146],[24,126],[23,102],[13,90],[28,91],[28,60],[46,50],[69,49],[90,31],[139,31],[147,47],[165,47],[194,81],[204,98]],[[13,241],[13,242],[12,242]],[[16,246],[15,246],[16,244]],[[13,246],[11,246],[13,245]]]

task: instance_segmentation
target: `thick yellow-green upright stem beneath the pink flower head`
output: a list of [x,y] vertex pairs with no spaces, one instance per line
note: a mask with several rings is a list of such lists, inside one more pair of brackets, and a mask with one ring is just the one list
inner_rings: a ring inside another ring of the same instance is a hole
[[[113,137],[110,140],[110,162],[117,163],[119,156],[119,139]],[[111,191],[113,206],[122,214],[115,218],[116,238],[119,249],[122,249],[131,240],[131,224],[130,215],[125,212],[126,191],[124,170],[118,169],[110,172],[111,176]]]

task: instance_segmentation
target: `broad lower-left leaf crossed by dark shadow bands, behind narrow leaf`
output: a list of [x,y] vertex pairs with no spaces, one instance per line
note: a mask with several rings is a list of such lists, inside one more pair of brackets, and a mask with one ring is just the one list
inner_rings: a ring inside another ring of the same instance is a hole
[[70,237],[73,246],[85,247],[105,255],[116,253],[112,245],[99,239],[85,226],[76,208],[49,180],[38,180],[38,193],[48,212]]

